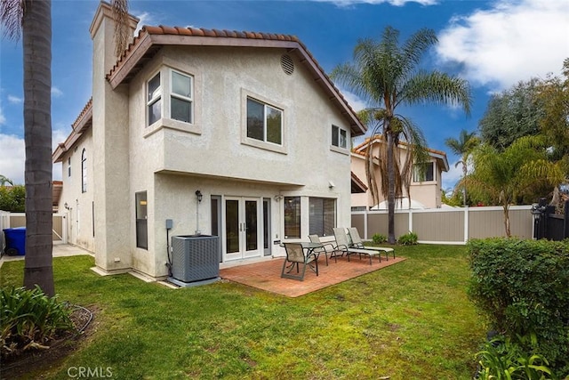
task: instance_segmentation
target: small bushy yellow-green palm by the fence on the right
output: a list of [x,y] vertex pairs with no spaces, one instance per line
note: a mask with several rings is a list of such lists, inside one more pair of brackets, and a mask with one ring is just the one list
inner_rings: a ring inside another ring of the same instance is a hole
[[547,159],[546,149],[543,136],[525,136],[503,151],[489,144],[473,151],[474,171],[462,182],[477,199],[502,206],[508,237],[509,206],[526,194],[553,190],[565,178],[561,166]]

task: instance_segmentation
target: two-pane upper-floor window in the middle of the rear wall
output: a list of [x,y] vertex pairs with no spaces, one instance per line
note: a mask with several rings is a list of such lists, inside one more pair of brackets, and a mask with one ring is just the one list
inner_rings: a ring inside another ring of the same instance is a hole
[[283,110],[247,98],[247,137],[283,144]]

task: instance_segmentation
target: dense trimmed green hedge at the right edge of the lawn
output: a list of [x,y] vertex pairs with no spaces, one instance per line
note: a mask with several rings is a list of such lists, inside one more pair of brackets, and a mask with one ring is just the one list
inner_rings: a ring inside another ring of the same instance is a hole
[[510,337],[534,334],[539,342],[535,349],[559,374],[566,372],[569,244],[477,239],[469,241],[468,250],[472,270],[469,296],[488,313],[493,329]]

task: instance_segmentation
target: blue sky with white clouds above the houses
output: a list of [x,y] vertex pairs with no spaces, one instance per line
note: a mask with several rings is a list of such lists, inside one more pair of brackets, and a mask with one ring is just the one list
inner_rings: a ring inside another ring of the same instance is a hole
[[[92,89],[89,27],[99,2],[52,0],[53,145],[71,131]],[[359,38],[379,39],[390,25],[405,41],[420,28],[436,31],[439,44],[424,57],[425,69],[440,69],[469,80],[473,109],[418,106],[400,109],[445,150],[445,139],[461,129],[477,130],[492,93],[521,80],[560,75],[569,57],[569,2],[566,0],[317,0],[317,1],[148,1],[131,0],[141,25],[220,28],[298,36],[329,73],[352,60]],[[21,42],[0,40],[0,174],[24,182]],[[341,89],[352,107],[365,103]],[[458,158],[447,151],[451,170],[443,187],[461,175]],[[56,165],[53,178],[61,178]]]

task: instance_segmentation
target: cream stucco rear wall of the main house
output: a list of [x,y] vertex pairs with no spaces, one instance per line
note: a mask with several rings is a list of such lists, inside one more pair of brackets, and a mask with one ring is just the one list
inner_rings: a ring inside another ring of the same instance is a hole
[[[349,151],[331,149],[332,125],[348,131],[349,125],[299,62],[295,62],[293,76],[284,73],[280,67],[283,53],[276,49],[168,47],[132,80],[132,220],[134,193],[148,192],[148,252],[133,248],[134,268],[154,277],[165,275],[165,219],[174,222],[171,236],[194,233],[196,190],[204,194],[200,204],[203,233],[209,232],[211,224],[211,195],[270,198],[271,240],[282,239],[284,231],[276,195],[303,197],[302,238],[309,234],[309,197],[337,198],[337,224],[349,226]],[[146,81],[163,65],[195,78],[196,123],[190,128],[194,132],[145,126]],[[284,109],[284,152],[243,143],[247,94]],[[130,236],[135,236],[133,225]],[[134,240],[131,244],[135,247]],[[271,247],[273,255],[283,255],[282,248]]]

